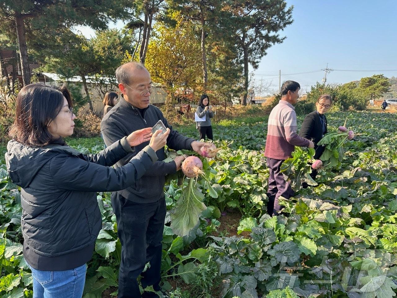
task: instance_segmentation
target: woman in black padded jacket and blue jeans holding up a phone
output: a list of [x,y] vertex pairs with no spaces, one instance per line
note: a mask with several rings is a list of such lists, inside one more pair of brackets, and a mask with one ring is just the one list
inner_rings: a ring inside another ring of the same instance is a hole
[[[98,154],[67,146],[73,134],[72,101],[66,88],[26,85],[16,100],[6,163],[21,187],[23,256],[32,270],[33,297],[81,298],[86,263],[102,227],[96,192],[135,183],[157,161],[166,134],[151,128],[123,137]],[[125,166],[111,166],[150,140]]]

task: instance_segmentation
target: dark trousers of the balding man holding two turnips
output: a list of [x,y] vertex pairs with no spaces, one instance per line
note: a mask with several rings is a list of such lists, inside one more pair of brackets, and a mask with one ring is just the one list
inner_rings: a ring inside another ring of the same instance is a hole
[[[165,198],[154,203],[135,203],[113,192],[112,207],[121,242],[118,298],[141,297],[137,282],[139,275],[143,288],[153,285],[154,290],[160,290]],[[150,262],[150,268],[142,273],[147,262]]]

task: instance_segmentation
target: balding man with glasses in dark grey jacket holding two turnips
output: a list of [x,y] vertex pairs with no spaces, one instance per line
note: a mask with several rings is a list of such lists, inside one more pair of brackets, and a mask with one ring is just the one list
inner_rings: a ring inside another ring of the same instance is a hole
[[[149,104],[153,87],[145,66],[138,62],[123,64],[116,70],[116,79],[123,96],[101,122],[101,132],[106,145],[114,143],[132,131],[152,127],[158,120],[162,120],[171,130],[167,138],[168,147],[200,152],[204,143],[173,130],[160,109]],[[142,143],[140,146],[145,147],[145,145],[147,144]],[[141,150],[141,147],[136,147],[135,153],[127,155],[116,166],[127,163]],[[137,278],[147,262],[150,262],[150,268],[141,274],[142,287],[152,285],[154,290],[160,290],[161,241],[166,216],[165,175],[179,170],[184,157],[176,157],[173,162],[165,163],[164,147],[156,154],[158,161],[137,180],[135,186],[112,193],[112,207],[116,214],[121,242],[118,298],[158,297],[157,294],[149,291],[145,291],[141,296],[139,291]]]

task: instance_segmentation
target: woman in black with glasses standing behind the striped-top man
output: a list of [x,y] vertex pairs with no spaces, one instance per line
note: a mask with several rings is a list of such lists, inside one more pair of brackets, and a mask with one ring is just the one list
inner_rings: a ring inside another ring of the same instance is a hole
[[[320,95],[316,101],[316,110],[308,114],[302,123],[299,135],[314,142],[314,159],[319,159],[324,152],[324,146],[316,145],[327,133],[328,122],[325,114],[330,110],[332,98],[328,94]],[[317,170],[313,169],[310,176],[314,179]]]

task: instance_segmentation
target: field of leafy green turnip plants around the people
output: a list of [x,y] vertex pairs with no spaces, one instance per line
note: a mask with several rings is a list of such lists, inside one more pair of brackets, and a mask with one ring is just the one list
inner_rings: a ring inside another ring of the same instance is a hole
[[[283,214],[266,214],[267,119],[216,122],[219,151],[201,157],[197,178],[167,177],[162,290],[171,298],[391,298],[397,292],[397,114],[327,114],[328,131],[345,124],[316,185],[302,188],[308,151],[285,166],[295,197]],[[303,118],[299,118],[300,126]],[[194,124],[175,127],[197,137]],[[347,133],[346,133],[347,134]],[[100,137],[69,139],[83,153],[103,149]],[[2,151],[5,148],[2,147]],[[169,151],[169,159],[175,154]],[[0,296],[32,297],[22,255],[20,193],[0,168]],[[84,298],[117,293],[121,245],[110,193],[98,193],[102,230],[88,263]],[[150,266],[150,264],[147,264]]]

